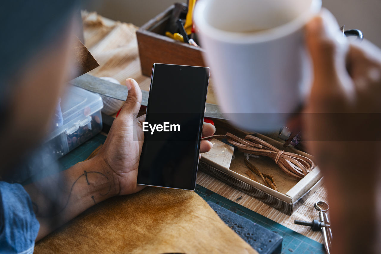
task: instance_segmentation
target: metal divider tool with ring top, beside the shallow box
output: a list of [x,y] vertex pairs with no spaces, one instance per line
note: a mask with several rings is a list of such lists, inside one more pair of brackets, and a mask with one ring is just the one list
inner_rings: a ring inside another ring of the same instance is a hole
[[315,203],[315,209],[319,212],[319,221],[312,220],[312,222],[303,221],[303,220],[295,220],[294,223],[298,225],[309,226],[313,231],[322,231],[323,240],[324,240],[324,248],[327,254],[330,254],[332,247],[332,232],[330,221],[328,220],[327,211],[330,208],[327,202],[317,201]]

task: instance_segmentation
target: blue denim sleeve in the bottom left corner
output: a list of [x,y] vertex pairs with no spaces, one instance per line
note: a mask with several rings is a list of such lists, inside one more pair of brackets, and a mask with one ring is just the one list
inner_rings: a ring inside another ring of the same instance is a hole
[[0,182],[0,252],[29,254],[40,224],[20,184]]

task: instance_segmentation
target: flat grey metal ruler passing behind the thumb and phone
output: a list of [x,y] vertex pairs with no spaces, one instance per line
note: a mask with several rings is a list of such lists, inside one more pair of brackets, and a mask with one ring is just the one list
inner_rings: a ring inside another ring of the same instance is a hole
[[[69,81],[69,83],[93,93],[98,93],[121,101],[125,101],[128,95],[128,89],[126,86],[114,84],[89,74],[83,74],[82,76]],[[148,94],[148,91],[142,91],[141,105],[147,106]],[[207,103],[205,107],[207,109],[205,112],[205,117],[227,120],[227,118],[221,113],[218,105]]]

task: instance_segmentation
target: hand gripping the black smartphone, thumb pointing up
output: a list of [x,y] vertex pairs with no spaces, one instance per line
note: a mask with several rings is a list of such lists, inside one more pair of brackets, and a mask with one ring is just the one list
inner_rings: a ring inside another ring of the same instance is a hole
[[[115,118],[101,151],[95,157],[106,171],[112,173],[114,183],[117,185],[115,195],[131,194],[144,188],[143,185],[136,184],[136,179],[144,141],[142,122],[145,121],[146,115],[136,118],[142,101],[138,83],[128,78],[126,86],[128,88],[126,102]],[[204,123],[202,136],[213,135],[215,130],[210,123]],[[200,152],[208,152],[212,146],[210,141],[203,140]]]

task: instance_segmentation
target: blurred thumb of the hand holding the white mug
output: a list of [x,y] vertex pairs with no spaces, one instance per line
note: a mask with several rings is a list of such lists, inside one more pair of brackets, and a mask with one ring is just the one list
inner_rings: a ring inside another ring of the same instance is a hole
[[[346,43],[335,17],[322,10],[306,26],[307,48],[311,55],[314,80],[322,89],[332,88],[338,79],[338,69],[345,68]],[[340,37],[341,36],[341,37]]]

